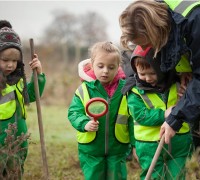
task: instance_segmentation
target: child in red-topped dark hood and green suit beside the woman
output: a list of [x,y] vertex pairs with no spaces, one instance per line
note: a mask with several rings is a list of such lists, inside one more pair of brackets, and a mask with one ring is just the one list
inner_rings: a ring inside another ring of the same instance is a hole
[[[167,88],[165,74],[161,71],[156,74],[146,60],[152,57],[151,48],[142,50],[137,46],[131,59],[131,66],[136,72],[136,86],[129,92],[128,106],[134,119],[135,148],[142,168],[141,179],[145,179],[158,147],[161,125],[178,100],[176,80]],[[152,61],[159,62],[157,59]],[[183,124],[171,139],[170,146],[164,145],[152,173],[153,179],[185,179],[185,163],[192,150],[188,124]]]

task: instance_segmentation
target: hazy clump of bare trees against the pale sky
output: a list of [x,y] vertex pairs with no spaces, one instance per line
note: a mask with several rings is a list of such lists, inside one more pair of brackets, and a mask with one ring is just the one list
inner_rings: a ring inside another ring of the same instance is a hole
[[[46,28],[42,42],[54,47],[52,53],[53,56],[57,54],[57,59],[78,62],[82,57],[83,47],[86,53],[85,49],[90,45],[107,38],[106,21],[96,12],[74,15],[66,10],[56,10],[53,15],[53,21]],[[69,55],[69,51],[72,53],[72,47],[74,58]]]

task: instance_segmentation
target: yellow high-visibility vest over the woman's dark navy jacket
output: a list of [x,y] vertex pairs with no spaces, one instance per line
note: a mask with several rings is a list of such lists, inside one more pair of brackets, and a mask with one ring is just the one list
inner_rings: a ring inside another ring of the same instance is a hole
[[[180,13],[182,16],[186,17],[194,7],[200,6],[200,1],[198,0],[164,0],[168,6],[175,12]],[[177,72],[192,72],[191,65],[188,60],[188,55],[182,55],[179,63],[176,65]]]

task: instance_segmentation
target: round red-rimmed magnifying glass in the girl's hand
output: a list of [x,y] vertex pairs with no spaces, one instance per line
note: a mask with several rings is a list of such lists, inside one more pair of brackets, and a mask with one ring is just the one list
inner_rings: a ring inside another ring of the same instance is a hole
[[108,112],[108,103],[103,98],[92,98],[86,104],[86,112],[97,121]]

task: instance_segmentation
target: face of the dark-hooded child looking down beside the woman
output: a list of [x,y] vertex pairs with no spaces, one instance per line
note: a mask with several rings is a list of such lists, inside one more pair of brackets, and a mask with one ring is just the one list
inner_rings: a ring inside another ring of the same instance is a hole
[[147,83],[155,86],[158,81],[157,74],[153,68],[142,68],[141,66],[136,66],[139,79],[146,81]]

